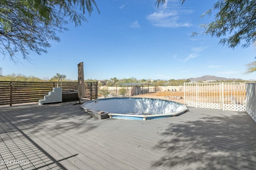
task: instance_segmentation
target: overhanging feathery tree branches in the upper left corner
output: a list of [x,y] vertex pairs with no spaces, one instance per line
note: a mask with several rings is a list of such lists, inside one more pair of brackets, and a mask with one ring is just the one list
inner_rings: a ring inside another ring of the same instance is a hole
[[94,0],[0,0],[0,53],[14,62],[20,53],[28,61],[30,53],[47,53],[48,41],[60,41],[56,32],[68,30],[66,18],[81,25],[93,5],[98,10]]

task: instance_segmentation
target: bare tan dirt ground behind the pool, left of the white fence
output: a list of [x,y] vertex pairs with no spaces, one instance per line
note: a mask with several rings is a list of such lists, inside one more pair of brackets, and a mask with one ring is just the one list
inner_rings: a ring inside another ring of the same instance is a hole
[[[180,96],[182,97],[182,99],[179,99]],[[184,92],[156,92],[156,93],[140,94],[132,97],[172,100],[172,101],[184,104]]]

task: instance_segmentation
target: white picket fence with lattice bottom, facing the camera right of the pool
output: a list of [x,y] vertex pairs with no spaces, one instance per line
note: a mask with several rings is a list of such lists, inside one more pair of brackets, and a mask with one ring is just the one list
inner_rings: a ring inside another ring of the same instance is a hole
[[186,106],[246,111],[246,83],[184,83]]

